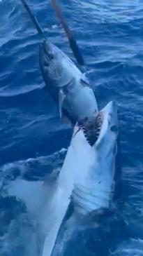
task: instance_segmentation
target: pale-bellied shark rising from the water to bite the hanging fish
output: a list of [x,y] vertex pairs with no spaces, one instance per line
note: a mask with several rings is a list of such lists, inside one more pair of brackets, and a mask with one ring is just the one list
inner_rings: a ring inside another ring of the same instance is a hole
[[42,256],[53,255],[71,206],[68,218],[91,219],[93,222],[98,222],[100,216],[114,209],[119,135],[116,103],[109,102],[100,114],[103,123],[92,147],[83,130],[77,133],[78,126],[75,126],[57,186],[47,206],[48,215],[44,223],[47,235]]

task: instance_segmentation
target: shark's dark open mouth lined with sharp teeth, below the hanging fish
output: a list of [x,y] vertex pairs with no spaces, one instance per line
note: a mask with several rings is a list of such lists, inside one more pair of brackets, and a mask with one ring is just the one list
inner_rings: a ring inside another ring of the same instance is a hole
[[93,146],[98,140],[100,135],[100,129],[103,125],[103,113],[98,112],[98,115],[95,119],[91,121],[86,121],[83,124],[80,124],[80,128],[83,130],[84,136],[86,137],[87,142]]

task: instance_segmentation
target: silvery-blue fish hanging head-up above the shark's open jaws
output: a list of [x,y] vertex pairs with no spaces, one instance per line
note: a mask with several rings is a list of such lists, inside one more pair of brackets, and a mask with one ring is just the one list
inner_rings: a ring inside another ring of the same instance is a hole
[[40,69],[50,95],[59,105],[59,113],[67,113],[72,123],[91,119],[98,112],[93,90],[83,74],[57,46],[40,43]]

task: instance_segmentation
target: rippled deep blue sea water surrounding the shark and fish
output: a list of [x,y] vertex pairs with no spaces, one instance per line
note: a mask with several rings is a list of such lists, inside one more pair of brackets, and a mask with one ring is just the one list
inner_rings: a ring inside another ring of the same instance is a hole
[[[66,255],[107,256],[109,252],[116,256],[140,256],[143,255],[143,2],[60,2],[84,55],[86,76],[99,107],[110,100],[118,105],[123,177],[123,207],[118,210],[121,221],[113,220],[110,239],[103,239],[99,246],[93,227],[86,232],[80,230]],[[48,1],[29,3],[50,41],[74,60]],[[47,172],[59,168],[63,161],[59,150],[68,146],[71,130],[59,121],[57,107],[45,94],[38,65],[40,36],[22,4],[2,0],[0,14],[0,255],[37,256],[43,238],[24,203],[8,196],[8,186],[20,177],[28,182],[44,180]],[[122,221],[128,227],[126,236]],[[106,251],[100,249],[103,246]]]

